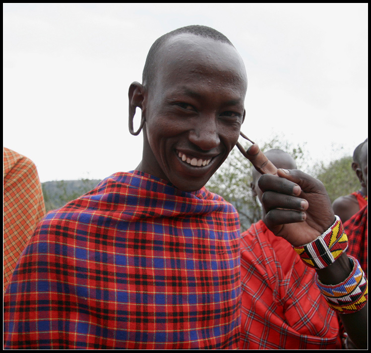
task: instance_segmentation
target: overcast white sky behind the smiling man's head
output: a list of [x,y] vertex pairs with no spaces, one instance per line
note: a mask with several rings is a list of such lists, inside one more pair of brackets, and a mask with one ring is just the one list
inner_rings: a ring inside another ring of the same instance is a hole
[[330,161],[368,136],[367,3],[5,3],[3,145],[42,182],[135,169],[128,87],[152,43],[190,24],[242,55],[255,142],[284,132]]

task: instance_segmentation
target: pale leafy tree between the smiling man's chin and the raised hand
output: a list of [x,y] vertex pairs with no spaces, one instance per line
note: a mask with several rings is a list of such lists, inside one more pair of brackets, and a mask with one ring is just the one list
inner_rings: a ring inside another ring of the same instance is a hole
[[[241,143],[245,149],[247,142]],[[298,164],[298,168],[305,171],[303,146],[294,146],[284,137],[275,136],[270,141],[259,145],[264,152],[270,149],[281,149],[290,153]],[[219,170],[210,178],[206,188],[226,201],[232,203],[239,215],[241,231],[246,231],[250,225],[261,218],[261,208],[256,198],[252,196],[250,183],[252,181],[252,165],[235,147]],[[307,168],[306,168],[307,169]]]

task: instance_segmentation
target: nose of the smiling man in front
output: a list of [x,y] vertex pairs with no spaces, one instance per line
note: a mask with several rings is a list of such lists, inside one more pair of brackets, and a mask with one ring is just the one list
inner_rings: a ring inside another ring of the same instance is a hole
[[209,151],[219,146],[220,138],[215,117],[199,117],[195,126],[189,131],[188,138],[203,151]]

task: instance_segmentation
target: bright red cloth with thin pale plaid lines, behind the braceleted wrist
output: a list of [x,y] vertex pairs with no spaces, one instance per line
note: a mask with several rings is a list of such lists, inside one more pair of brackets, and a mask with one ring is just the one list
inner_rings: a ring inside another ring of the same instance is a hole
[[262,220],[241,235],[240,349],[341,349],[336,313],[314,273]]

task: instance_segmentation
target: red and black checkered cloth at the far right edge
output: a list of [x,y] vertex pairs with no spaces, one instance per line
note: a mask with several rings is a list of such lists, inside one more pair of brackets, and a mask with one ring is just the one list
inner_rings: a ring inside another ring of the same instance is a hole
[[368,206],[364,206],[352,218],[344,223],[344,232],[348,236],[347,254],[354,256],[362,270],[368,276]]

